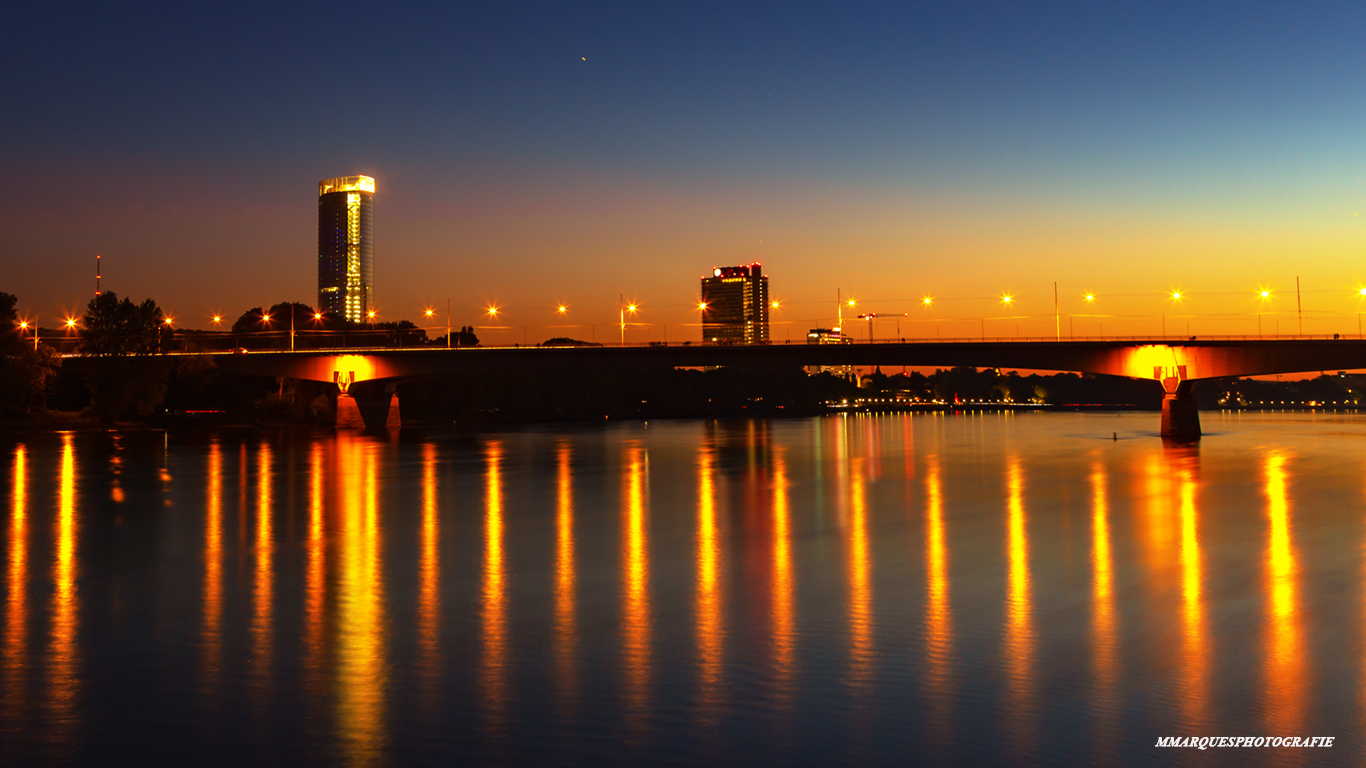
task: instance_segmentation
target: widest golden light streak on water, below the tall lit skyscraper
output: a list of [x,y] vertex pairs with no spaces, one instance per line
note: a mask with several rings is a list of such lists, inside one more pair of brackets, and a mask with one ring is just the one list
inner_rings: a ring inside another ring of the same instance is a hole
[[378,459],[372,443],[346,445],[337,567],[337,726],[348,763],[382,761],[387,741],[384,689],[384,567]]

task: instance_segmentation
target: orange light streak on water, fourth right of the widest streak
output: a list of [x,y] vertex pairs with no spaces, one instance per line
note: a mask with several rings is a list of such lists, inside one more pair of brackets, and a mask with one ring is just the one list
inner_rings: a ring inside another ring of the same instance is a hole
[[627,720],[632,730],[645,726],[650,686],[650,553],[647,514],[649,458],[637,443],[626,451],[626,504],[622,521],[624,530],[622,562],[626,573],[623,660],[626,663]]

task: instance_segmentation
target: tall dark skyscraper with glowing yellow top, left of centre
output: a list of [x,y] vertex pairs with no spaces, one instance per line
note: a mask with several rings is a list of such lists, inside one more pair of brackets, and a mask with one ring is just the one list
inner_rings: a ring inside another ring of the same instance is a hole
[[318,182],[318,312],[363,323],[374,309],[374,179]]

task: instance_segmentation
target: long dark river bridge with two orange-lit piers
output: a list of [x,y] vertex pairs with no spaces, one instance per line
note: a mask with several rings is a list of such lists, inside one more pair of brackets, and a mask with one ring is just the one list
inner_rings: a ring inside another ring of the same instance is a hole
[[366,428],[389,417],[399,383],[479,370],[634,366],[974,366],[1152,379],[1162,385],[1161,435],[1201,436],[1193,387],[1203,379],[1366,368],[1363,339],[1127,338],[889,340],[843,344],[649,344],[336,348],[172,353],[213,358],[224,373],[333,383]]

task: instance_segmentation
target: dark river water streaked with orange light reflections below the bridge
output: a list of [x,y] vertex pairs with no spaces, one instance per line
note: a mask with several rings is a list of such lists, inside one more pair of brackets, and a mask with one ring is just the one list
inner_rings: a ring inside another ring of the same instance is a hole
[[1366,418],[1156,426],[0,437],[0,763],[1359,764]]

